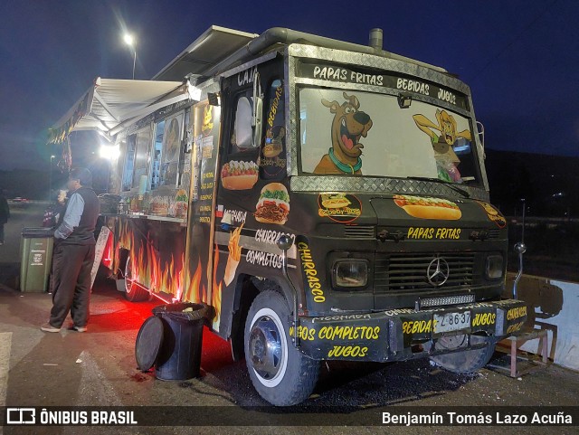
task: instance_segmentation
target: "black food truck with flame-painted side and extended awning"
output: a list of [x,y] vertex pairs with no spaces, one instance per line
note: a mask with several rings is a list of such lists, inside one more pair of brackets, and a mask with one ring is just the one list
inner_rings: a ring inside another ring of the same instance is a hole
[[214,26],[154,80],[97,80],[52,131],[119,150],[103,261],[128,300],[207,304],[274,405],[325,360],[474,372],[527,317],[500,297],[507,222],[469,87],[371,36]]

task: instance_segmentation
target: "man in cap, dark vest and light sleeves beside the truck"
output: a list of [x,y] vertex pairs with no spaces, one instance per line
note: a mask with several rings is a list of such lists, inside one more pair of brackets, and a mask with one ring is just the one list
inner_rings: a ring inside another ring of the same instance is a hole
[[44,332],[59,332],[71,312],[72,326],[87,330],[89,321],[90,270],[94,261],[94,229],[100,202],[92,190],[92,175],[84,167],[69,175],[70,199],[54,232],[52,251],[52,310]]

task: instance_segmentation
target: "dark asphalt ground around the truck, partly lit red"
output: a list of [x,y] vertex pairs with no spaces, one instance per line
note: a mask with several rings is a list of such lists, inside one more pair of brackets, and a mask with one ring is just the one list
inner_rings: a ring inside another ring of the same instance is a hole
[[[149,420],[186,420],[190,426],[52,426],[0,428],[6,434],[77,433],[263,433],[318,435],[352,433],[579,433],[579,426],[382,425],[382,412],[406,407],[472,414],[505,406],[558,410],[579,405],[579,376],[551,364],[546,370],[510,378],[487,368],[451,374],[428,360],[392,364],[322,364],[314,394],[299,408],[272,408],[254,391],[244,362],[234,363],[229,345],[204,330],[201,376],[160,381],[135,361],[138,329],[160,301],[128,302],[114,281],[97,279],[86,333],[40,331],[51,295],[17,288],[20,232],[42,222],[43,204],[13,210],[0,247],[0,405],[82,410],[87,406],[138,407]],[[507,364],[496,354],[496,364]],[[493,407],[493,408],[485,408]],[[122,409],[122,408],[121,408]],[[522,409],[522,408],[521,408]],[[179,417],[183,417],[179,420]],[[206,426],[203,424],[208,423]],[[210,423],[210,424],[209,424]],[[577,424],[575,422],[575,424]]]

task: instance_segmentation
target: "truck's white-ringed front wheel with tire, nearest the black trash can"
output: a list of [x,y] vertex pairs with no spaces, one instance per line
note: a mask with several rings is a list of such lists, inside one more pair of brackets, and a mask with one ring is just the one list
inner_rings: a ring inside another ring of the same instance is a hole
[[291,344],[288,302],[274,290],[261,292],[245,322],[245,362],[255,390],[276,406],[303,402],[318,381],[319,361]]

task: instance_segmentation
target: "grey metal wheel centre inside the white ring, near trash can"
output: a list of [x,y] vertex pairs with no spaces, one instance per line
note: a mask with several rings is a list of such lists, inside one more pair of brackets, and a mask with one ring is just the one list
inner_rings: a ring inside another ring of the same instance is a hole
[[280,330],[271,317],[260,317],[253,324],[249,348],[255,372],[263,379],[274,379],[280,373],[283,346]]

